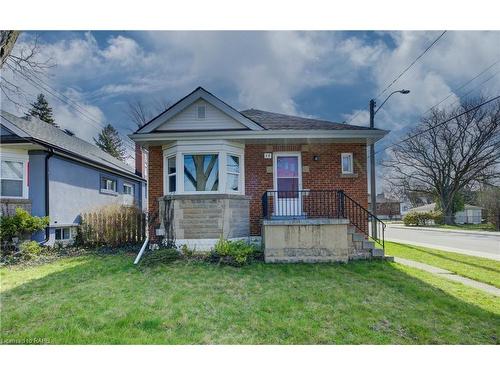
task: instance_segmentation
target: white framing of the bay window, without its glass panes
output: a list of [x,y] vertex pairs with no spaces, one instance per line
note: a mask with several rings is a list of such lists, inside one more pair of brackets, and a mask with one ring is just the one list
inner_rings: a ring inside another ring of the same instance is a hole
[[[205,194],[245,194],[245,150],[244,145],[230,141],[176,141],[163,146],[163,195],[205,195]],[[219,187],[217,191],[185,191],[184,190],[184,156],[185,155],[218,155]],[[237,156],[240,160],[240,176],[238,191],[226,191],[227,155]],[[168,192],[168,159],[176,157],[176,192]]]

